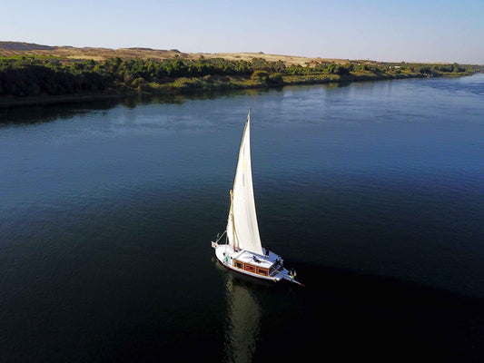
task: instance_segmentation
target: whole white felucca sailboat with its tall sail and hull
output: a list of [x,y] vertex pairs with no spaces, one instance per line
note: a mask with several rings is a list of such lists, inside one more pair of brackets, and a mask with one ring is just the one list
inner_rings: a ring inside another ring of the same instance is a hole
[[[219,244],[225,235],[225,243]],[[251,111],[242,136],[239,160],[231,191],[231,207],[227,228],[212,241],[217,259],[222,265],[263,280],[295,280],[296,272],[287,270],[281,256],[262,248],[252,185]]]

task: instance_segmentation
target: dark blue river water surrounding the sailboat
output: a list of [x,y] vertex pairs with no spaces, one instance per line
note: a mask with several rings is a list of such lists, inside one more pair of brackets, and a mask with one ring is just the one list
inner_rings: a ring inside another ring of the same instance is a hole
[[[223,270],[243,123],[262,243]],[[484,359],[484,74],[0,110],[0,361]]]

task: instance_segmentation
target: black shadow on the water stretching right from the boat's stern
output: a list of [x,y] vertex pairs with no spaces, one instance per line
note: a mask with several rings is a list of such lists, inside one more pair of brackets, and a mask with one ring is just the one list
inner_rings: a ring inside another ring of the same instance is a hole
[[[484,300],[393,278],[298,263],[301,329],[331,356],[482,361]],[[296,323],[296,324],[298,324]],[[301,340],[301,344],[303,341]]]

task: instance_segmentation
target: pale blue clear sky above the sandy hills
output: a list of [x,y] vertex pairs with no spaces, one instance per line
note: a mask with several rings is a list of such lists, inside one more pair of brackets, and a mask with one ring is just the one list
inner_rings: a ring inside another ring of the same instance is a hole
[[484,0],[1,0],[0,41],[484,64]]

